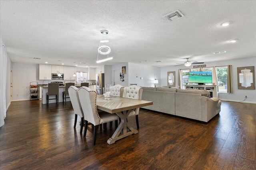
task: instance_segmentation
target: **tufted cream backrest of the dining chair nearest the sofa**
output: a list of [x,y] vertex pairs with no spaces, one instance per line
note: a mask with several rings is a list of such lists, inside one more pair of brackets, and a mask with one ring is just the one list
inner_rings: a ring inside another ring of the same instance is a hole
[[[130,99],[136,99],[141,100],[142,98],[142,91],[143,88],[140,86],[132,85],[124,88],[124,94],[123,98],[130,98]],[[135,114],[138,115],[140,111],[140,107],[134,109]]]

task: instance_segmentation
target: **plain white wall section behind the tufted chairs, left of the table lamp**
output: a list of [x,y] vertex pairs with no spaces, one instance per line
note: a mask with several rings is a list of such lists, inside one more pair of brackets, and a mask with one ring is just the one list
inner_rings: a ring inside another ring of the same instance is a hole
[[[143,64],[128,63],[129,84],[136,83],[141,87],[154,87],[153,80],[158,80],[157,87],[161,86],[160,67],[148,66]],[[167,73],[166,73],[167,74]],[[142,77],[143,79],[140,79]]]

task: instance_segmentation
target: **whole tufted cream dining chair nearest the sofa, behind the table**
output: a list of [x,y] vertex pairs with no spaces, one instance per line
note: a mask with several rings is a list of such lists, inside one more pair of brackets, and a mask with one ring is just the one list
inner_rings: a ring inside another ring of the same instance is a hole
[[[123,98],[141,100],[142,91],[143,89],[140,86],[136,86],[136,85],[125,87]],[[127,112],[128,117],[133,117],[133,116],[136,117],[137,129],[140,129],[139,117],[138,117],[139,111],[140,111],[140,107]]]

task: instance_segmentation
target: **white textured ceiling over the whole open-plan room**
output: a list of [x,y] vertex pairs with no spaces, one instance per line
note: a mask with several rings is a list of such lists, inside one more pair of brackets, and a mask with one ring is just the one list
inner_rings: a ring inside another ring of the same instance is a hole
[[[109,31],[103,64],[169,66],[256,56],[256,1],[4,1],[0,34],[13,62],[96,67],[101,29]],[[180,10],[184,18],[162,16]],[[224,21],[232,21],[222,27]],[[239,39],[237,43],[230,43]],[[117,52],[120,51],[120,52]],[[227,51],[223,54],[213,54]],[[34,60],[32,57],[42,58]],[[155,61],[163,61],[156,63]]]

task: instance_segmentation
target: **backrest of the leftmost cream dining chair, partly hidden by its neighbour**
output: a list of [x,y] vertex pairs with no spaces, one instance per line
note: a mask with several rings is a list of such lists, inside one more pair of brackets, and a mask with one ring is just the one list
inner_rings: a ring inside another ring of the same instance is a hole
[[80,117],[84,117],[84,112],[82,111],[78,96],[78,88],[76,88],[75,86],[70,86],[68,88],[68,94],[75,114],[79,115]]

